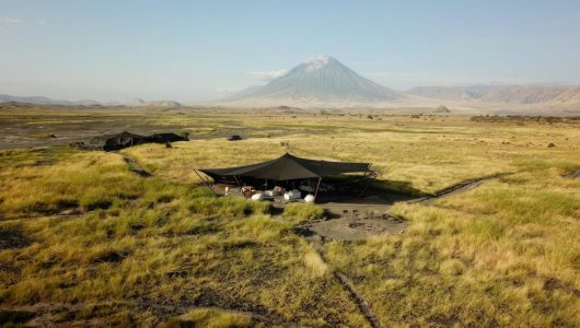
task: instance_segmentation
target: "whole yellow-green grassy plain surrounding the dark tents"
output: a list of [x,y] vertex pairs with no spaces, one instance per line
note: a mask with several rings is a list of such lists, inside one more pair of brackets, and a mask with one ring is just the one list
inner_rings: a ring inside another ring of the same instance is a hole
[[[577,119],[8,108],[0,126],[0,320],[371,325],[345,277],[385,327],[580,323],[580,179],[562,176],[580,167]],[[192,141],[62,145],[125,127]],[[225,141],[233,132],[247,139]],[[393,199],[504,175],[395,202],[402,234],[313,244],[294,227],[320,208],[272,215],[267,202],[217,197],[193,172],[286,150],[372,162]]]

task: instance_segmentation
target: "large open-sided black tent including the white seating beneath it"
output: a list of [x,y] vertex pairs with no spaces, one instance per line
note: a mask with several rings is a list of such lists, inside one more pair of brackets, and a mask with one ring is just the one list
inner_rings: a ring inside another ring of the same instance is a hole
[[198,171],[204,183],[227,196],[308,202],[360,196],[376,177],[370,163],[309,160],[289,153],[251,165]]

